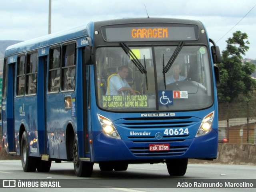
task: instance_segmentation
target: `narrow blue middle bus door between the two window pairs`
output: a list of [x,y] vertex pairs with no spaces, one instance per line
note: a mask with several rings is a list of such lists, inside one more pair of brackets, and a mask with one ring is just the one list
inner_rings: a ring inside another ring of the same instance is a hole
[[[42,52],[42,51],[41,51]],[[38,57],[38,142],[40,154],[48,154],[47,150],[47,129],[46,129],[46,72],[48,56]]]

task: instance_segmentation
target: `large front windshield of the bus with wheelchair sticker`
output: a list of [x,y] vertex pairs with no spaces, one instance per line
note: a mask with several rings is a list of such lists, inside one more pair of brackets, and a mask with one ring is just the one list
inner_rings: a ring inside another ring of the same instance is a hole
[[[122,47],[98,48],[96,81],[100,108],[148,112],[209,107],[213,103],[213,88],[207,47],[184,45],[174,58],[176,48],[129,47],[132,54]],[[174,61],[170,64],[171,58]]]

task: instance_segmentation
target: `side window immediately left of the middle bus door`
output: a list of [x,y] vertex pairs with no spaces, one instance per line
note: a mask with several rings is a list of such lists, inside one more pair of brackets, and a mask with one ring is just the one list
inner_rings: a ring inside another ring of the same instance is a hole
[[28,54],[26,68],[26,94],[36,94],[38,53]]

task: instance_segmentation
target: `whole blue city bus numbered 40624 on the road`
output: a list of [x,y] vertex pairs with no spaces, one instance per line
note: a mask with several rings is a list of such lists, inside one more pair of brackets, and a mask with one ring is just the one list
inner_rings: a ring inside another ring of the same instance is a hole
[[201,22],[170,18],[90,22],[9,46],[4,149],[24,172],[166,163],[183,176],[188,158],[217,156],[219,62]]

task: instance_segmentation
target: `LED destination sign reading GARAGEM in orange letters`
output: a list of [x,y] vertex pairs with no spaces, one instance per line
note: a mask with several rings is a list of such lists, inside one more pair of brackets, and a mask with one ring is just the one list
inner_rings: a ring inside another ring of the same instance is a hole
[[108,42],[197,40],[198,26],[105,26],[102,34]]

